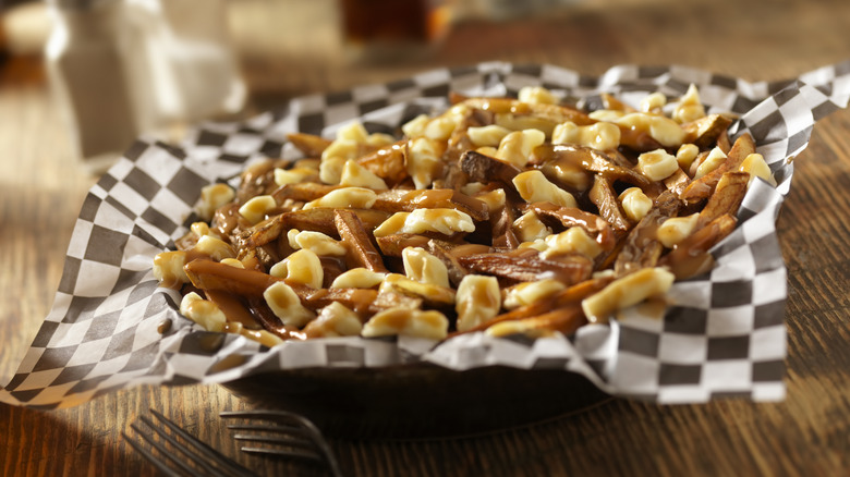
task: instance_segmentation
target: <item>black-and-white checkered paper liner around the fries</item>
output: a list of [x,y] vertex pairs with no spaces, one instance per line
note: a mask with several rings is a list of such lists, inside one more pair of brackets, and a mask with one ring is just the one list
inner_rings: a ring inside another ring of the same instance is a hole
[[[246,163],[260,158],[296,158],[288,133],[332,137],[354,119],[369,132],[396,133],[420,113],[447,108],[449,91],[506,96],[542,85],[593,107],[603,91],[632,105],[653,91],[675,101],[692,83],[709,112],[740,114],[730,134],[753,134],[779,185],[754,183],[739,227],[713,250],[716,268],[675,283],[664,317],[635,307],[609,326],[586,326],[570,338],[473,333],[439,344],[405,337],[336,338],[269,350],[199,329],[177,311],[179,294],[158,288],[153,277],[154,257],[173,248],[197,219],[193,207],[201,188],[235,181]],[[212,383],[280,369],[414,362],[458,370],[563,369],[608,393],[659,403],[724,395],[780,400],[786,269],[775,221],[791,182],[789,159],[806,147],[815,122],[846,107],[848,98],[850,62],[775,83],[680,66],[621,65],[591,77],[554,65],[481,63],[302,97],[245,122],[204,124],[179,147],[139,139],[86,197],[53,307],[17,372],[0,389],[0,402],[49,409],[143,383]],[[166,319],[173,326],[160,334]]]

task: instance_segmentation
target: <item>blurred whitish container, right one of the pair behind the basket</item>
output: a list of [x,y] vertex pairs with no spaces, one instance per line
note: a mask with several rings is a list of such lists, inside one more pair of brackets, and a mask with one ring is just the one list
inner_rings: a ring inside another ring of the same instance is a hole
[[124,0],[127,81],[145,131],[234,113],[246,89],[223,0]]

